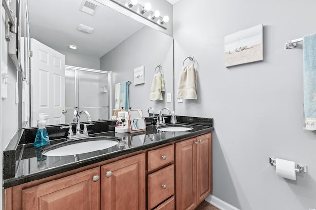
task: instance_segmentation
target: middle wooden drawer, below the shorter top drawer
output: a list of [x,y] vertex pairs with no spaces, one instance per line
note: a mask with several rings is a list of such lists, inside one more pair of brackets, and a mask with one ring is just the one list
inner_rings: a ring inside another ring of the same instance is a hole
[[174,195],[174,164],[148,175],[148,209]]

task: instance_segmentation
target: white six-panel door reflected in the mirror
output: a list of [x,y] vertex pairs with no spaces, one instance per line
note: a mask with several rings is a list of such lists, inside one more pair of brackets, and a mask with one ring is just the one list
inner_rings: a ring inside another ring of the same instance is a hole
[[65,123],[65,56],[31,39],[31,126],[39,113],[46,113],[47,125]]

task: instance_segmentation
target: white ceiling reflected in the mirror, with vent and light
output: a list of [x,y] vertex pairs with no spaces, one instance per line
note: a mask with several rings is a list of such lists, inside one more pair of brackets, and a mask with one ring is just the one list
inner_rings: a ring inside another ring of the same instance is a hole
[[[79,11],[81,0],[29,0],[30,35],[59,52],[76,45],[81,55],[100,58],[144,25],[101,5],[95,16]],[[78,24],[95,30],[78,31]]]

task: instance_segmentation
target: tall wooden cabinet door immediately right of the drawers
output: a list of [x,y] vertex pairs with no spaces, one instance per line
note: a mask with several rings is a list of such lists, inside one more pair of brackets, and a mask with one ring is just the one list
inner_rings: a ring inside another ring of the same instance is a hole
[[196,207],[196,147],[197,140],[176,143],[176,209]]

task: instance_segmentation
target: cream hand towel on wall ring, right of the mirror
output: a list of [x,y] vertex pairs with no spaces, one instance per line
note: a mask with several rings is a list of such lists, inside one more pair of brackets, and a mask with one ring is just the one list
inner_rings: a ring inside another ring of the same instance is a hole
[[178,83],[177,98],[197,99],[197,72],[194,66],[183,66]]

